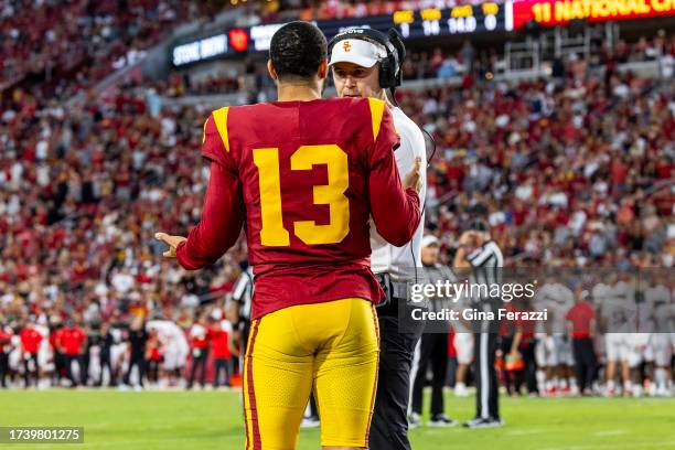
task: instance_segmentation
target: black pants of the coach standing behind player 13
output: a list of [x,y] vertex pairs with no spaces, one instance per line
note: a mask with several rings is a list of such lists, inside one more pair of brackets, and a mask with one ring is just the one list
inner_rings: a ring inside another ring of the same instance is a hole
[[419,330],[401,333],[397,309],[377,309],[379,321],[379,374],[371,424],[371,450],[410,450],[408,440],[408,401],[410,368]]

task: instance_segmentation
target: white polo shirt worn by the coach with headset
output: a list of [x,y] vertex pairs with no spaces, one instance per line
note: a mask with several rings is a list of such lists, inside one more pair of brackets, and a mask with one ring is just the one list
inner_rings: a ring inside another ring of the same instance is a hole
[[[400,147],[394,156],[398,173],[403,179],[413,169],[415,158],[421,158],[421,183],[419,192],[419,206],[424,208],[427,194],[427,150],[425,137],[419,127],[405,115],[400,108],[392,108],[394,126],[400,136]],[[371,267],[375,274],[388,272],[394,279],[409,279],[415,276],[414,267],[421,267],[421,239],[425,232],[425,215],[422,211],[421,221],[413,236],[413,240],[403,247],[395,247],[387,243],[371,226]]]

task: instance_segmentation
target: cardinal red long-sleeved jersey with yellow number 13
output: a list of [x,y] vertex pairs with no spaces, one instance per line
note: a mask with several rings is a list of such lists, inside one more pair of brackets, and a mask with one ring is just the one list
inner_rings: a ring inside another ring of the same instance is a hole
[[398,136],[382,100],[341,98],[221,108],[204,126],[213,161],[200,224],[178,247],[186,269],[215,261],[246,223],[251,319],[293,304],[379,301],[369,218],[398,246],[420,221],[400,183]]

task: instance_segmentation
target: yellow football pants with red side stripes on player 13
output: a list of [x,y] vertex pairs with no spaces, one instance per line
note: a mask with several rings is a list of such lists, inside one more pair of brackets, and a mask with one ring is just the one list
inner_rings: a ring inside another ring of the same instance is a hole
[[246,450],[292,450],[314,387],[321,444],[367,447],[379,330],[364,299],[300,304],[255,320],[244,363]]

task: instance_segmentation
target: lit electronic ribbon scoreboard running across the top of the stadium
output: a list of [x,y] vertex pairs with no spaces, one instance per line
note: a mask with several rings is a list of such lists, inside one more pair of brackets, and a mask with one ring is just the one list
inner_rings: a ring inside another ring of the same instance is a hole
[[[508,32],[528,22],[562,25],[574,20],[590,22],[675,15],[675,0],[508,0],[454,8],[398,10],[392,14],[313,22],[330,40],[353,28],[386,33],[396,28],[404,39]],[[242,52],[266,52],[272,35],[285,23],[235,28],[193,39],[172,49],[174,66]]]

